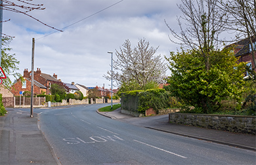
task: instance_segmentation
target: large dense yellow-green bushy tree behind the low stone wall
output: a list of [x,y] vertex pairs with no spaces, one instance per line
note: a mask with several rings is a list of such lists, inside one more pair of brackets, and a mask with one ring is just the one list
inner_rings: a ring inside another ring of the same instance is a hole
[[168,81],[171,94],[200,113],[212,113],[221,106],[222,100],[227,99],[237,100],[239,109],[245,90],[245,64],[237,64],[234,53],[226,48],[211,51],[208,56],[207,69],[200,51],[171,52],[171,57],[167,58],[171,69]]

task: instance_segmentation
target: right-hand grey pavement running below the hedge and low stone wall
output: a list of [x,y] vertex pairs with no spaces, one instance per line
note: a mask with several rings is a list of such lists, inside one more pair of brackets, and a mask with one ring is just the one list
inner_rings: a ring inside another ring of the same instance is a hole
[[[213,143],[220,143],[232,147],[256,151],[256,136],[252,134],[240,134],[223,130],[212,130],[197,126],[169,123],[169,115],[156,115],[151,117],[132,117],[121,113],[121,109],[112,112],[98,112],[112,119],[121,120],[137,126],[177,134],[179,136],[192,137]],[[255,128],[256,129],[256,128]]]

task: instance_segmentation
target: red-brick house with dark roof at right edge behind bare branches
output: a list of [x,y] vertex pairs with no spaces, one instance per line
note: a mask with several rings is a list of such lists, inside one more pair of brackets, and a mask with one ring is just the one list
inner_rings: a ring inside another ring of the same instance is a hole
[[[256,37],[253,38],[253,50],[255,50],[254,54],[251,52],[252,47],[249,38],[232,43],[232,45],[235,45],[234,54],[239,58],[238,62],[245,62],[246,65],[250,66],[251,68],[255,68],[255,65],[253,64],[253,56],[256,58]],[[245,73],[245,76],[247,75],[248,73]]]

